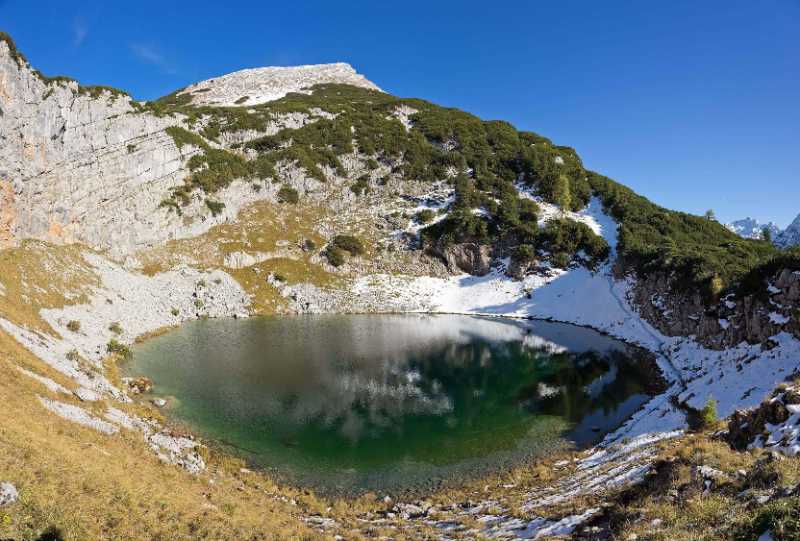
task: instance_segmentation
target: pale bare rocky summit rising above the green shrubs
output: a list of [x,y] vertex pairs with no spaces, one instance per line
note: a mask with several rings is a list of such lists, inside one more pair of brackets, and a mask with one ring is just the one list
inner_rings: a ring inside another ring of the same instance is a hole
[[381,91],[350,64],[336,62],[243,69],[200,81],[179,94],[189,94],[193,105],[251,106],[280,99],[290,92],[304,92],[314,85],[330,83]]

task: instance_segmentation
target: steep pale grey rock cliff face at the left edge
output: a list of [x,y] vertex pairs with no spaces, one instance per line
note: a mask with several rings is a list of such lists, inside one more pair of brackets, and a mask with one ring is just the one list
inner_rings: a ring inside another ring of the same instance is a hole
[[[41,79],[0,42],[0,235],[80,241],[115,255],[183,233],[158,209],[186,174],[164,129],[178,119],[138,113],[128,96],[92,96]],[[191,216],[191,213],[190,213]]]

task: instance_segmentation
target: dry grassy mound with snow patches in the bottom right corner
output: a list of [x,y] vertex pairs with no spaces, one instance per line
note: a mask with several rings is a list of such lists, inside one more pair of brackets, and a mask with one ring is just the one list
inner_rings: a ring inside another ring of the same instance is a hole
[[[725,479],[706,487],[699,466],[715,468]],[[793,488],[798,480],[798,459],[768,460],[761,452],[734,451],[707,432],[695,434],[665,451],[657,474],[624,493],[603,520],[614,539],[744,541],[755,540],[769,525],[776,540],[795,540],[800,529],[792,520],[800,515],[800,499],[764,504],[753,496]]]

